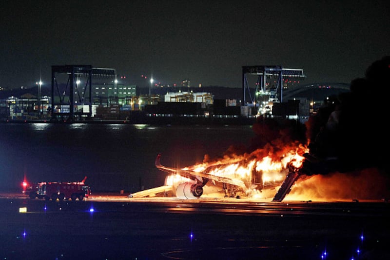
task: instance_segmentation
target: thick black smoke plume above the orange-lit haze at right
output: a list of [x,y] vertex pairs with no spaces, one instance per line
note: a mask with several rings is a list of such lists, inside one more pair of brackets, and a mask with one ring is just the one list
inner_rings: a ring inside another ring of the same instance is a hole
[[339,168],[334,171],[385,166],[389,75],[390,56],[373,62],[365,78],[351,81],[350,92],[330,97],[307,121],[312,156],[337,158]]

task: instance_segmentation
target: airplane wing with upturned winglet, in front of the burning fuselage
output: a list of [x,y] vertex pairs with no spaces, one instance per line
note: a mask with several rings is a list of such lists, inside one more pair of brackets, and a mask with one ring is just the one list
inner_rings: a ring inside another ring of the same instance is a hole
[[203,183],[203,179],[208,179],[208,180],[219,181],[219,182],[223,182],[223,183],[227,183],[227,184],[236,185],[236,186],[239,186],[242,188],[246,188],[245,183],[242,180],[233,180],[230,178],[215,176],[215,175],[211,175],[211,174],[204,173],[204,172],[194,172],[194,171],[189,171],[189,170],[182,170],[182,169],[176,169],[176,168],[170,168],[170,167],[163,166],[160,163],[160,157],[161,157],[161,154],[158,154],[156,161],[155,161],[155,165],[161,171],[164,171],[164,172],[167,172],[170,174],[178,174],[178,175],[183,176],[185,178],[189,178],[191,180],[196,180],[199,184]]

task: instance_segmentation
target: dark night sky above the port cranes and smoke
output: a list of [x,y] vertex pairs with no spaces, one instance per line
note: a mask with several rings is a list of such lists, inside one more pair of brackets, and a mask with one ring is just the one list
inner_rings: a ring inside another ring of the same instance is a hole
[[390,1],[23,0],[0,8],[0,86],[50,84],[51,66],[115,68],[163,84],[241,87],[242,66],[304,83],[364,77],[390,54]]

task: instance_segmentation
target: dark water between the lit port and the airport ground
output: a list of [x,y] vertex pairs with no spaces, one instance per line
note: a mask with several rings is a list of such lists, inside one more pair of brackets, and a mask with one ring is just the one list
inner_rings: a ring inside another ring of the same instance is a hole
[[93,191],[137,192],[164,184],[157,170],[220,157],[231,146],[249,146],[252,127],[131,124],[0,124],[0,190],[30,182],[80,181]]

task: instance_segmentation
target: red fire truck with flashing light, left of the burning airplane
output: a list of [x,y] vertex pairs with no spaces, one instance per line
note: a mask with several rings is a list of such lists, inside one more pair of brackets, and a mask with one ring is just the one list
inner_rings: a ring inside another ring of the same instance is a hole
[[91,195],[91,188],[85,185],[84,181],[78,182],[38,182],[29,187],[31,199],[39,198],[45,200],[83,200]]

